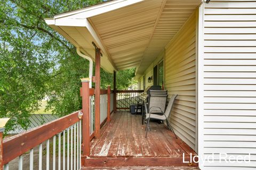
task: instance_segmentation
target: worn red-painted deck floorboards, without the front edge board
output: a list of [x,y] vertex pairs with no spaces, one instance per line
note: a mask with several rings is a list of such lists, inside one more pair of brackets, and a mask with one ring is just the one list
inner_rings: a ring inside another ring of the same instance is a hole
[[101,137],[91,141],[90,157],[180,157],[182,153],[196,154],[181,139],[175,139],[173,132],[164,124],[150,122],[150,129],[146,138],[140,115],[135,117],[127,111],[118,111],[111,116],[111,122],[102,127]]

